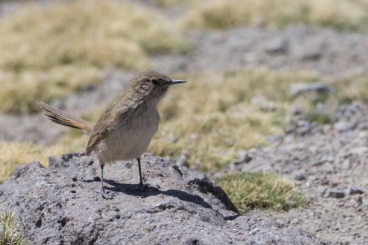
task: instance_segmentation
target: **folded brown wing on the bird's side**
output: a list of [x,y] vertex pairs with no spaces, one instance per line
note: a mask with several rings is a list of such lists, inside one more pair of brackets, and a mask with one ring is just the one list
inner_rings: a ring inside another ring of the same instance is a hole
[[112,114],[111,107],[107,108],[106,111],[102,113],[88,138],[86,155],[89,155],[96,144],[109,133],[109,129],[113,125],[115,119],[116,114]]

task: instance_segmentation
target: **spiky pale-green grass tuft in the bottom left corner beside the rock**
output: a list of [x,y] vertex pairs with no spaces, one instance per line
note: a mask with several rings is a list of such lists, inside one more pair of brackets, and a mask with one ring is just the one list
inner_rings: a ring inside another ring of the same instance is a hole
[[18,226],[14,213],[10,210],[0,213],[0,245],[28,244],[32,243],[22,234],[22,229]]

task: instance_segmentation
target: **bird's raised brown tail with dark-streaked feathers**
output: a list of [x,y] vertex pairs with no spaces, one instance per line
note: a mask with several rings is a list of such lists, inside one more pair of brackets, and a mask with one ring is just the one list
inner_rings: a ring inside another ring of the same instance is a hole
[[77,118],[76,116],[68,114],[41,101],[36,101],[36,103],[43,109],[43,111],[45,111],[45,115],[47,116],[47,118],[49,118],[54,123],[58,123],[60,125],[72,127],[75,129],[80,129],[88,136],[91,134],[92,129],[95,126],[95,123],[87,122],[85,120]]

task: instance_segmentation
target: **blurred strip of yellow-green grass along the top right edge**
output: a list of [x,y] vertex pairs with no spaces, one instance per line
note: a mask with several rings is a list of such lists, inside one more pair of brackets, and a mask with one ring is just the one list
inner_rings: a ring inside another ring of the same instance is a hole
[[368,31],[368,3],[350,0],[216,0],[197,2],[184,26],[223,29],[234,26],[312,24]]

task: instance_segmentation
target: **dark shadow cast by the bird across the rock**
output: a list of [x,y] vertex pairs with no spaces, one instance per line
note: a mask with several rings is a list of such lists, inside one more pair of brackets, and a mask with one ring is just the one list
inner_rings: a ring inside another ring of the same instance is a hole
[[201,205],[204,208],[211,208],[212,206],[209,205],[203,198],[199,197],[198,195],[192,195],[185,191],[180,190],[166,190],[166,191],[160,191],[158,188],[155,187],[146,187],[144,191],[138,191],[135,190],[138,187],[138,184],[123,184],[123,183],[117,183],[114,180],[106,180],[104,179],[104,182],[113,185],[113,187],[104,187],[105,190],[109,190],[111,192],[116,193],[124,193],[126,195],[132,195],[132,196],[156,196],[159,194],[167,195],[170,197],[176,197],[179,198],[181,201],[185,202],[192,202],[197,205]]

